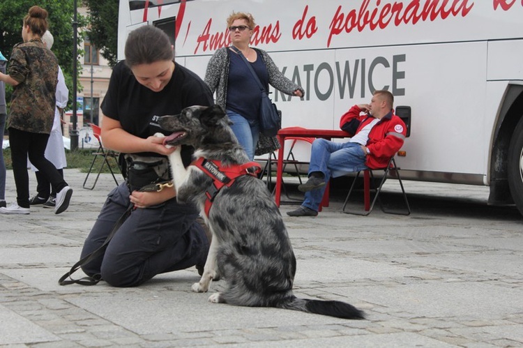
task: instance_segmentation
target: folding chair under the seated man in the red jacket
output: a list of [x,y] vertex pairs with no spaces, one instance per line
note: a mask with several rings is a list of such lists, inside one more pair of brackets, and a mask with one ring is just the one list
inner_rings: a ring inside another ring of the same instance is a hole
[[[374,174],[372,173],[374,170],[383,170],[384,175],[381,178],[381,181],[379,183],[378,188],[371,188],[370,186],[374,184]],[[347,198],[345,198],[345,202],[343,204],[342,211],[344,213],[348,214],[356,214],[356,215],[369,215],[372,209],[374,208],[374,204],[377,200],[379,200],[379,193],[381,192],[381,188],[383,187],[383,184],[385,183],[387,176],[389,173],[394,172],[396,179],[400,182],[400,186],[402,188],[402,194],[403,194],[403,200],[406,206],[405,211],[395,211],[395,210],[388,210],[385,209],[383,204],[381,204],[381,200],[379,201],[379,205],[381,206],[381,210],[384,213],[391,213],[391,214],[397,214],[397,215],[409,215],[411,213],[411,208],[409,206],[409,201],[407,200],[407,194],[405,193],[405,190],[403,188],[402,179],[400,177],[400,168],[396,166],[396,161],[394,159],[394,156],[391,157],[390,160],[388,160],[388,165],[384,168],[376,168],[376,169],[364,169],[363,171],[359,171],[356,174],[356,177],[354,178],[354,181],[352,182],[351,188],[349,190],[349,193],[347,194]],[[364,172],[363,175],[363,197],[364,197],[364,209],[361,210],[351,210],[346,209],[347,202],[349,202],[349,197],[351,196],[352,191],[354,190],[354,186],[356,186],[356,181],[358,177],[360,176],[361,172]],[[374,192],[374,199],[372,199],[372,204],[370,204],[370,192]]]

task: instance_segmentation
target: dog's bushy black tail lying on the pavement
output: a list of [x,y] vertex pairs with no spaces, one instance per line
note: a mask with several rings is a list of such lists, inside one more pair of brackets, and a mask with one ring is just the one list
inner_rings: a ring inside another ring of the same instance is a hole
[[354,305],[349,305],[349,303],[342,301],[310,300],[293,296],[287,298],[286,301],[282,301],[277,307],[342,319],[365,319],[363,311],[358,310]]

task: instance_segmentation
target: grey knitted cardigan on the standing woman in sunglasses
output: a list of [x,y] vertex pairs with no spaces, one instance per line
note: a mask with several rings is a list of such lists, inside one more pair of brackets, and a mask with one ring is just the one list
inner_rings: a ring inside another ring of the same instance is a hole
[[[265,63],[268,83],[271,86],[289,96],[294,96],[294,91],[299,89],[305,96],[305,90],[280,73],[280,70],[278,70],[278,67],[271,57],[268,56],[267,52],[258,48],[255,48],[255,50]],[[223,109],[225,109],[225,103],[227,103],[227,80],[229,77],[230,52],[227,51],[230,51],[229,47],[222,47],[217,50],[211,57],[205,73],[205,83],[209,86],[212,93],[216,92],[216,104],[223,107]]]

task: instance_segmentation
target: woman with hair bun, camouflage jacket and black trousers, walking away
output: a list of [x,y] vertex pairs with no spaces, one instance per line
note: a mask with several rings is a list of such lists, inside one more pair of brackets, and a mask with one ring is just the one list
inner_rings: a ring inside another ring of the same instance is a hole
[[68,208],[73,195],[73,189],[44,156],[53,126],[58,81],[58,60],[42,42],[45,31],[47,11],[39,6],[32,6],[24,17],[24,42],[13,47],[8,75],[0,73],[0,81],[13,86],[7,128],[17,193],[16,203],[0,208],[0,213],[3,214],[30,213],[28,156],[56,190],[55,214]]

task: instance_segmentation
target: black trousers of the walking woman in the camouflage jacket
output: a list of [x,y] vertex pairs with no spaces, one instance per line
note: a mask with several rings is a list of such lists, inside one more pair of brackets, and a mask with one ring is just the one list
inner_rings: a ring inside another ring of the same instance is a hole
[[27,156],[31,163],[47,177],[56,192],[67,186],[66,181],[56,167],[45,158],[48,134],[30,133],[24,130],[9,128],[9,146],[13,160],[16,200],[19,206],[29,208],[29,174],[27,173]]

